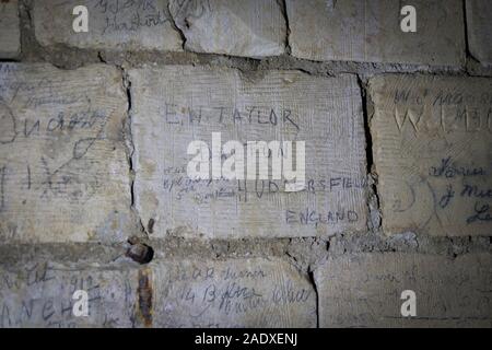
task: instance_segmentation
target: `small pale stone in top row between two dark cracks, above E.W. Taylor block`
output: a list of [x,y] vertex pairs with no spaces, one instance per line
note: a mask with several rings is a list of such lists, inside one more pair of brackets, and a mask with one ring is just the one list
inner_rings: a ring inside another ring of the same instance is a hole
[[171,13],[197,52],[265,57],[285,50],[286,27],[280,1],[171,1]]

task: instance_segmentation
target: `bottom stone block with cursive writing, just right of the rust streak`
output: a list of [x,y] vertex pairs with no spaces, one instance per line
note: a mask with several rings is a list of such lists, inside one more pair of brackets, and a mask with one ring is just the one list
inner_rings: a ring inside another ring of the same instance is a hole
[[313,285],[281,260],[179,260],[153,283],[155,327],[316,327]]

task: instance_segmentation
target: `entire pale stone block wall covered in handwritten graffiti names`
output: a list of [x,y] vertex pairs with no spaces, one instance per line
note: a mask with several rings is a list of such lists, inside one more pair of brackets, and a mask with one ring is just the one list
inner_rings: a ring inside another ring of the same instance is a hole
[[492,5],[409,3],[0,1],[0,327],[491,327]]

